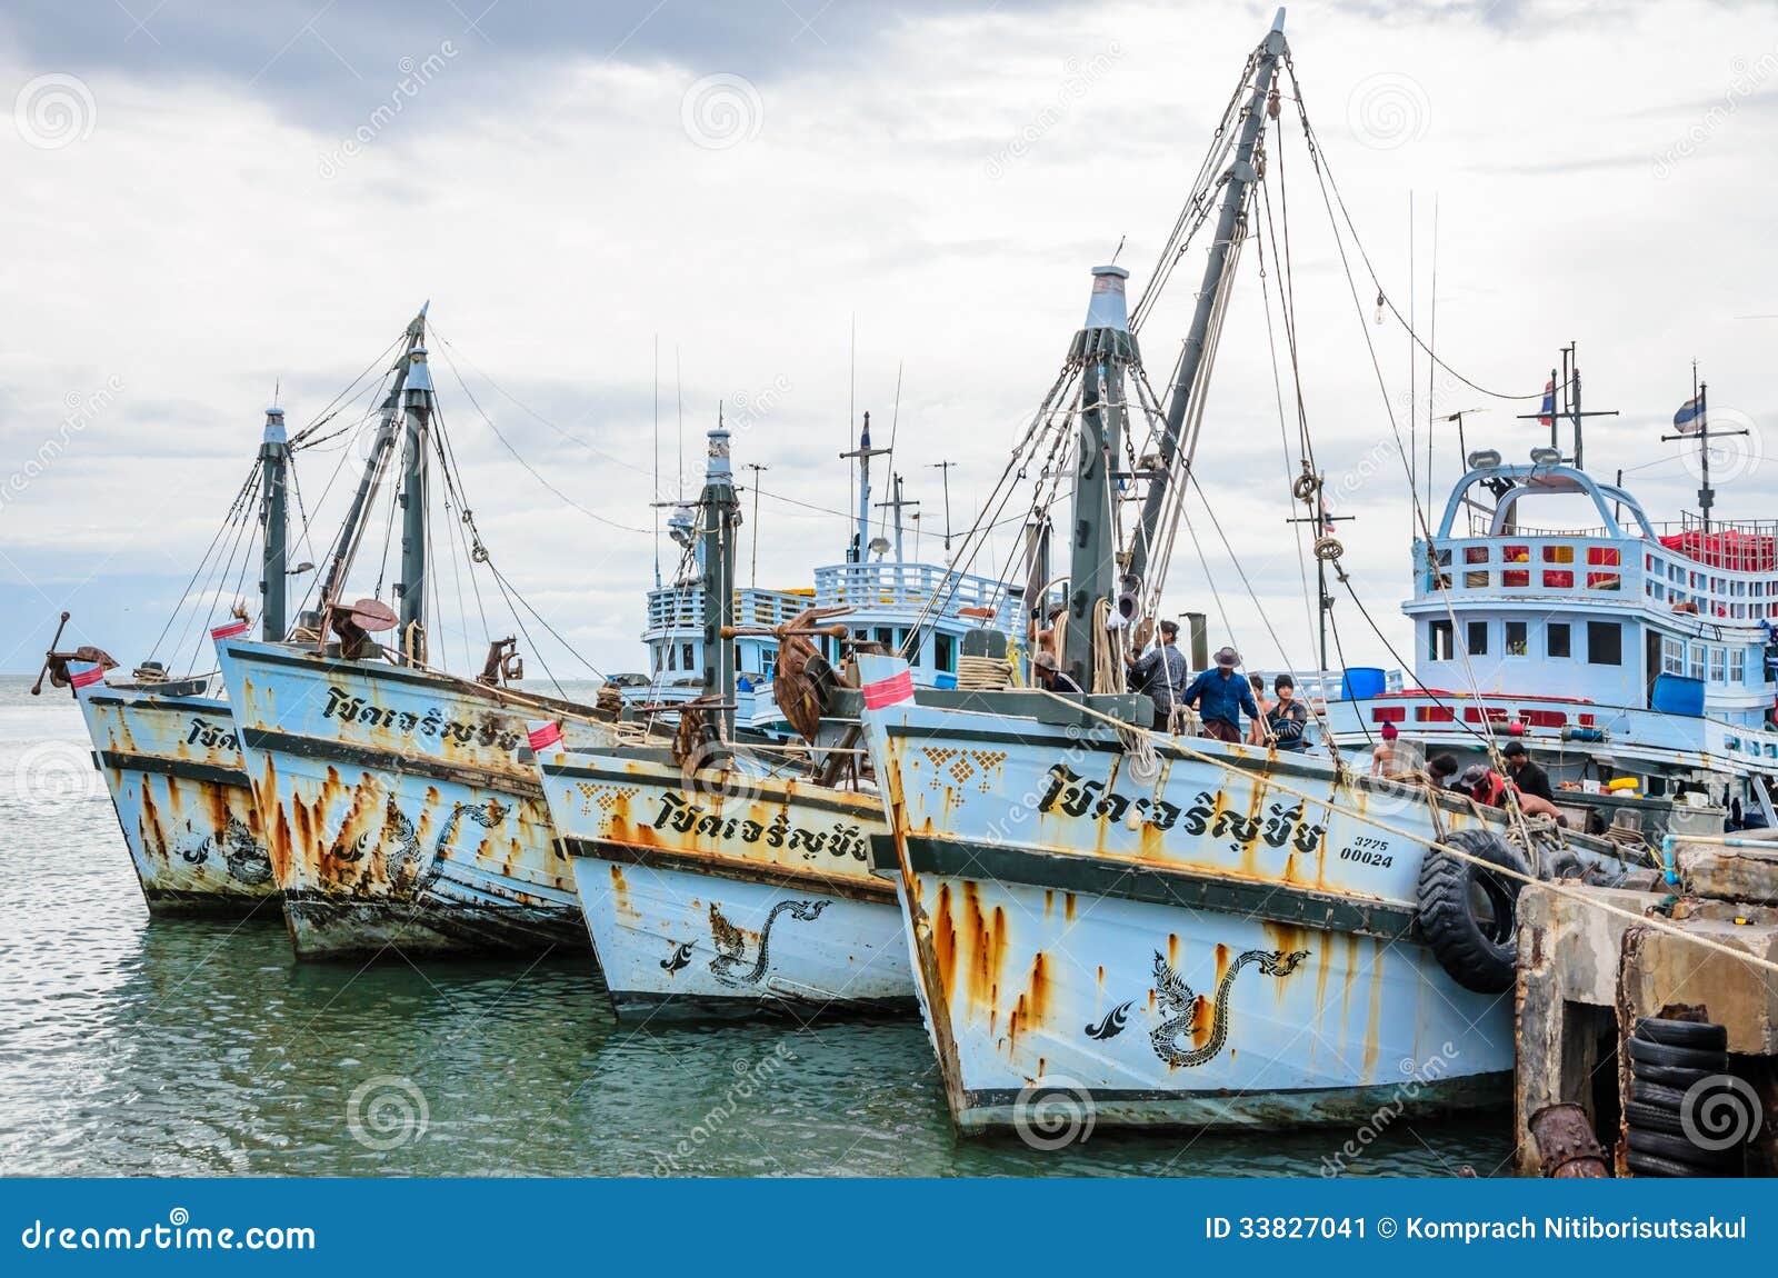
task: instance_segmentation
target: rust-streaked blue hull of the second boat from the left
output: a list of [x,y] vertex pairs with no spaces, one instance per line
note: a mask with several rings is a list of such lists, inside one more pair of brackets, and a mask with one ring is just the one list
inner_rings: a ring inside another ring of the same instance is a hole
[[299,956],[587,947],[521,713],[393,665],[217,654]]

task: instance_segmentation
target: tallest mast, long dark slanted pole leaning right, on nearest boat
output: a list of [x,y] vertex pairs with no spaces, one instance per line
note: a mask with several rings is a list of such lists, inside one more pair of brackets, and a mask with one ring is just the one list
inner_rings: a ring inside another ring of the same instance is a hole
[[[1211,240],[1209,261],[1204,267],[1204,283],[1198,288],[1198,306],[1191,316],[1191,331],[1186,334],[1186,348],[1179,355],[1179,375],[1173,380],[1173,393],[1166,405],[1166,428],[1161,432],[1159,473],[1149,480],[1149,494],[1141,507],[1141,524],[1131,544],[1131,576],[1141,578],[1149,571],[1149,549],[1161,523],[1161,508],[1166,503],[1166,476],[1172,473],[1173,459],[1179,455],[1179,439],[1186,425],[1186,407],[1191,389],[1198,380],[1198,368],[1204,364],[1204,345],[1209,339],[1211,318],[1221,297],[1223,272],[1229,267],[1229,245],[1234,242],[1236,228],[1246,208],[1246,194],[1259,180],[1253,169],[1253,148],[1266,128],[1266,96],[1271,92],[1271,80],[1284,57],[1284,9],[1271,21],[1271,30],[1259,46],[1259,59],[1253,66],[1253,92],[1248,94],[1246,108],[1241,116],[1241,140],[1236,144],[1234,164],[1229,165],[1223,188],[1221,212],[1216,215],[1216,238]],[[1083,684],[1085,686],[1085,684]]]

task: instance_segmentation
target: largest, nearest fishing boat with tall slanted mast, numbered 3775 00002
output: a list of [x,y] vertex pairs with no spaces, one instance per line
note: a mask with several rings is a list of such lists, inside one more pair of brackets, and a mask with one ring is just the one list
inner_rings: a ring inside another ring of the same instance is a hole
[[[1424,779],[1358,775],[1275,739],[1157,731],[1156,704],[1124,690],[1186,489],[1209,501],[1191,459],[1232,260],[1264,233],[1266,123],[1284,96],[1301,107],[1294,78],[1275,91],[1285,68],[1280,11],[1214,133],[1186,238],[1175,231],[1161,258],[1170,268],[1216,210],[1165,409],[1127,272],[1099,267],[1063,375],[1015,450],[1044,457],[1060,441],[1070,459],[1058,665],[1086,693],[939,707],[909,695],[894,658],[861,658],[891,828],[880,864],[900,882],[923,1013],[967,1132],[1056,1106],[1099,1127],[1253,1129],[1495,1102],[1513,1063],[1518,883],[1559,857],[1616,873],[1598,844]],[[1301,460],[1296,496],[1312,503]],[[1317,558],[1337,555],[1317,537]]]

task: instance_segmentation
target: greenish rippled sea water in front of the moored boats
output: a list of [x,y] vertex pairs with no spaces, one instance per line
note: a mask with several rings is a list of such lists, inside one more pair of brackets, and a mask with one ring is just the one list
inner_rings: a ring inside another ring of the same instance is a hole
[[[917,1022],[619,1027],[585,960],[295,963],[149,921],[80,713],[0,679],[0,1173],[1319,1175],[1351,1132],[953,1136]],[[1508,1116],[1357,1175],[1483,1175]]]

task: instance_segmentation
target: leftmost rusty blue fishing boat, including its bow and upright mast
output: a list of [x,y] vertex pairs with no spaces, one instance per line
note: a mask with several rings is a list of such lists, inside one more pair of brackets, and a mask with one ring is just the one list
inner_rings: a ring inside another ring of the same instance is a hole
[[[226,528],[244,531],[258,517],[260,626],[267,638],[284,633],[290,466],[284,411],[270,407],[254,471],[226,521]],[[212,544],[212,555],[220,540]],[[194,581],[206,567],[217,567],[210,558]],[[229,619],[219,631],[247,627],[245,620]],[[265,828],[213,674],[169,677],[151,654],[132,679],[108,683],[105,672],[116,663],[98,649],[57,652],[60,635],[57,627],[46,654],[48,672],[59,686],[71,686],[80,702],[92,763],[105,777],[149,914],[244,917],[270,907],[268,915],[276,917],[277,882]]]

